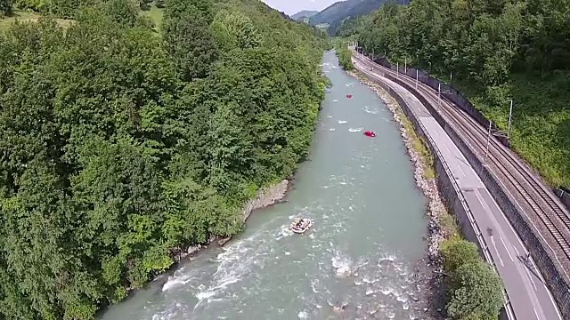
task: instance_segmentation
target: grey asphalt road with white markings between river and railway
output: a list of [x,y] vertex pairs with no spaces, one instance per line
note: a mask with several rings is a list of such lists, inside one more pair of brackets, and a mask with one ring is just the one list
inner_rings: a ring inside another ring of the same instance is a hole
[[461,154],[444,129],[437,124],[436,119],[411,92],[399,84],[395,84],[378,72],[371,71],[370,66],[364,67],[357,60],[354,60],[354,67],[388,84],[407,100],[419,117],[419,121],[426,128],[427,134],[436,142],[436,148],[444,156],[445,162],[452,171],[452,178],[458,182],[461,193],[473,213],[476,226],[485,242],[482,245],[488,249],[505,284],[514,313],[509,317],[517,320],[562,320],[556,303],[544,284],[542,275],[532,259],[525,260],[527,253],[525,244],[510,226],[476,171],[468,164],[465,156]]

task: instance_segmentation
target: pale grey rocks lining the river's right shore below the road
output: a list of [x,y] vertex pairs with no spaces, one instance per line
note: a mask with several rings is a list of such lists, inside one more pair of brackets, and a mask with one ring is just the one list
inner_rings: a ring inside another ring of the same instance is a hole
[[428,218],[427,259],[424,260],[424,263],[421,263],[423,266],[416,268],[416,275],[419,277],[418,286],[428,288],[429,291],[428,297],[426,297],[429,302],[424,306],[425,308],[423,308],[423,310],[427,314],[430,314],[430,316],[442,318],[444,317],[444,312],[442,311],[444,308],[442,305],[444,293],[441,287],[443,260],[439,253],[439,246],[448,236],[445,234],[444,229],[441,226],[441,217],[446,214],[447,211],[442,198],[439,195],[436,177],[426,178],[424,175],[429,164],[427,163],[427,159],[420,156],[419,152],[413,148],[410,137],[411,134],[404,126],[403,117],[405,116],[398,103],[381,86],[379,86],[379,84],[374,84],[358,72],[347,71],[347,73],[358,79],[362,84],[368,85],[379,95],[379,97],[386,103],[387,108],[392,112],[395,122],[400,127],[400,133],[403,137],[403,143],[407,149],[408,156],[410,156],[411,163],[414,164],[415,167],[414,179],[416,180],[416,185],[428,198],[428,208],[426,212],[426,217]]

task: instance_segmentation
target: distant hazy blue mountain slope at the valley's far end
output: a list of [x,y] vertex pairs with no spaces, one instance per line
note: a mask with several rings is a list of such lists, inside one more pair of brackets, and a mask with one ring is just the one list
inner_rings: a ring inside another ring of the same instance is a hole
[[[312,25],[329,24],[328,32],[334,35],[340,23],[347,18],[360,17],[378,10],[382,4],[390,0],[346,0],[331,4],[311,17]],[[397,0],[398,4],[409,4],[410,0]]]

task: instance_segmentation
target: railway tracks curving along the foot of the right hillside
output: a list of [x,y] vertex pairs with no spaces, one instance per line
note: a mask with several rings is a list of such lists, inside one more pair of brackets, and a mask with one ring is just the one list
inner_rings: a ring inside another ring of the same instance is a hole
[[[359,57],[358,54],[356,57],[365,67],[367,65],[369,67],[373,66],[373,68],[381,70],[385,74],[397,77],[398,80],[411,87],[416,85],[416,80],[410,76],[396,75],[396,72],[390,68],[385,68],[376,63],[372,64],[373,62],[370,60],[362,60],[362,57]],[[452,101],[444,96],[441,97],[440,103],[438,103],[437,92],[427,84],[418,83],[417,90],[433,106],[439,105],[439,108],[436,108],[436,112],[443,116],[448,124],[453,124],[461,139],[468,144],[474,153],[483,158],[485,156],[488,132],[477,124],[475,119],[463,110],[456,108]],[[570,267],[570,218],[564,206],[558,203],[558,199],[555,199],[554,195],[551,195],[550,191],[534,177],[533,172],[525,167],[525,164],[522,164],[516,156],[511,154],[500,141],[495,139],[489,141],[486,165],[493,169],[496,175],[500,175],[503,178],[501,181],[503,185],[507,182],[506,188],[516,190],[515,194],[517,196],[513,196],[517,197],[518,200],[522,200],[522,205],[530,209],[530,212],[525,210],[519,203],[522,212],[525,212],[531,221],[538,220],[542,223],[544,228],[538,229],[546,230],[552,240],[554,240],[556,245],[550,245],[550,249],[556,255],[553,258],[558,260],[558,263],[563,267],[566,277],[570,278],[567,273],[567,268]],[[531,215],[534,215],[534,217]],[[544,240],[547,244],[552,244],[552,241]]]

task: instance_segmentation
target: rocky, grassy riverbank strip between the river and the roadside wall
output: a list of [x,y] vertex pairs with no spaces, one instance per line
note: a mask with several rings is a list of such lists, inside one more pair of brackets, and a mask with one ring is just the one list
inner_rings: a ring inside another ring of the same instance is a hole
[[444,287],[443,287],[443,258],[440,246],[445,239],[459,233],[455,219],[445,208],[439,189],[437,188],[436,173],[433,167],[433,156],[423,141],[415,132],[410,120],[403,114],[402,108],[379,84],[374,84],[358,71],[346,71],[350,76],[366,84],[386,103],[392,112],[393,119],[399,124],[399,129],[411,163],[414,165],[416,186],[428,198],[426,217],[428,219],[428,246],[426,259],[420,260],[416,268],[419,282],[428,289],[424,297],[429,301],[424,311],[436,318],[444,317]]

